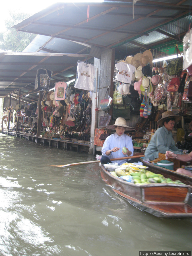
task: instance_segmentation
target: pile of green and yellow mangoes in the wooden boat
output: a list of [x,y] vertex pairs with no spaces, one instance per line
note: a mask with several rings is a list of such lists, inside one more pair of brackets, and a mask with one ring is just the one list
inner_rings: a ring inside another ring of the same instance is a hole
[[131,175],[134,183],[138,185],[144,185],[149,183],[175,183],[175,184],[184,184],[180,180],[173,181],[170,178],[165,178],[162,174],[155,174],[146,169],[140,169],[140,171],[134,171],[127,166],[125,170],[120,168],[115,169],[115,172],[111,172],[115,177]]

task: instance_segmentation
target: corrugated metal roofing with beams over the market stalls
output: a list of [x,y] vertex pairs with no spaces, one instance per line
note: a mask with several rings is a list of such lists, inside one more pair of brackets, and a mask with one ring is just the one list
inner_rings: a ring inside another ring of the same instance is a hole
[[[101,49],[115,48],[115,58],[124,59],[126,55],[156,49],[158,45],[166,47],[169,42],[174,47],[175,42],[181,42],[188,31],[191,20],[190,0],[140,0],[134,4],[134,10],[133,0],[122,0],[57,3],[23,20],[14,28],[38,34],[24,53],[83,53],[86,56],[90,54],[89,57],[99,57]],[[18,93],[15,79],[21,81],[22,85],[27,82],[29,87],[33,85],[36,71],[41,67],[53,70],[51,86],[54,81],[72,79],[76,75],[77,61],[83,59],[50,55],[39,63],[43,58],[38,55],[3,55],[1,59],[0,56],[0,97],[11,92],[11,86],[15,86]],[[36,67],[32,68],[32,65]],[[8,85],[4,92],[3,81]]]

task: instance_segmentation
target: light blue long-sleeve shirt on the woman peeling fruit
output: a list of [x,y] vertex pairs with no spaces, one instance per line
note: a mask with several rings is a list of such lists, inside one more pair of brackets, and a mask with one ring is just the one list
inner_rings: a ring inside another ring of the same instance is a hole
[[[112,152],[109,156],[105,154],[107,150],[113,149],[114,147],[120,148],[117,152]],[[121,136],[119,136],[116,132],[112,135],[108,136],[105,140],[103,147],[102,147],[102,156],[107,156],[108,158],[119,158],[119,157],[125,157],[127,155],[124,155],[122,153],[122,148],[126,147],[128,148],[132,153],[130,156],[133,156],[133,142],[131,137],[123,133]],[[124,160],[115,160],[112,162],[116,162],[119,165],[125,163],[128,159]]]

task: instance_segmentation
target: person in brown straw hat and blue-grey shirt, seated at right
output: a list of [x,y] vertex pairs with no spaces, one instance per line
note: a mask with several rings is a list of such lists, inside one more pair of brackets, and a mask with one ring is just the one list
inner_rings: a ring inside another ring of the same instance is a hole
[[[176,147],[174,139],[172,137],[172,130],[175,123],[181,120],[181,116],[174,115],[172,111],[166,111],[162,113],[162,118],[157,121],[157,125],[162,126],[156,130],[150,143],[145,150],[145,158],[150,161],[165,159],[165,153],[167,150],[174,152],[175,154],[182,154],[182,152]],[[163,154],[163,155],[162,155]]]

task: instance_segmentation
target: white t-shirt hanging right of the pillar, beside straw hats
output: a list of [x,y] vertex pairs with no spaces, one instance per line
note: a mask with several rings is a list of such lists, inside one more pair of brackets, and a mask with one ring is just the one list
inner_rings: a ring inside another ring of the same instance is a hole
[[119,70],[115,76],[115,80],[122,83],[131,84],[132,75],[136,70],[135,67],[121,61],[115,64],[115,68]]

